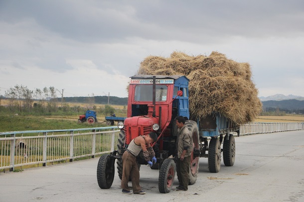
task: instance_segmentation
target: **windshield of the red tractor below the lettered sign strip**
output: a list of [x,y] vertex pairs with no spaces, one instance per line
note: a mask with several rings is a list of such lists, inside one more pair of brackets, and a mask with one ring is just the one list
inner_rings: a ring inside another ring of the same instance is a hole
[[[167,100],[166,85],[156,85],[155,88],[155,101],[166,101]],[[137,85],[135,87],[135,101],[152,101],[152,85]]]

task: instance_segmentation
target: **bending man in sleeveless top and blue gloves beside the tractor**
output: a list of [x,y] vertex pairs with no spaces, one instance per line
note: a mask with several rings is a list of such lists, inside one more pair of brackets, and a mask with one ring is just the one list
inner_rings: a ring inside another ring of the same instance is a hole
[[[149,135],[138,136],[134,138],[123,154],[123,176],[121,181],[122,192],[124,194],[132,194],[128,186],[129,177],[131,175],[133,194],[146,194],[140,186],[140,171],[137,166],[136,157],[143,149],[145,160],[150,166],[152,162],[156,163],[155,152],[151,147],[152,142],[156,142],[157,135],[150,132]],[[151,162],[152,161],[152,162]]]

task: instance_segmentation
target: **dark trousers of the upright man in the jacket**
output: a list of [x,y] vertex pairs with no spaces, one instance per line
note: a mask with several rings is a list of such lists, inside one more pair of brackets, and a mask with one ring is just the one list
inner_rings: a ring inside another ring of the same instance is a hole
[[190,169],[190,156],[184,158],[183,161],[180,158],[176,161],[176,173],[179,183],[179,187],[188,190],[189,184],[189,169]]

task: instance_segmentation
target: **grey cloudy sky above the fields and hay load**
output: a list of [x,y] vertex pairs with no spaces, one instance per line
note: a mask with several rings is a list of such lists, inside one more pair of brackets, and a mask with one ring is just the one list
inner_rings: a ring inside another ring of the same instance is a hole
[[304,97],[304,0],[0,0],[0,95],[127,97],[140,62],[173,51],[218,51],[250,63],[260,97]]

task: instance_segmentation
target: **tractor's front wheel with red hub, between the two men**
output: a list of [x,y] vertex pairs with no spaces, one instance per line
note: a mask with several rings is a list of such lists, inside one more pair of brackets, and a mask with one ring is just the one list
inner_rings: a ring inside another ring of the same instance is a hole
[[172,159],[165,159],[160,167],[158,176],[158,191],[169,193],[174,182],[176,166]]

